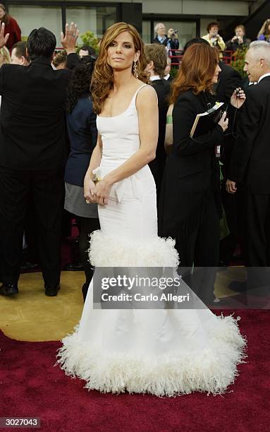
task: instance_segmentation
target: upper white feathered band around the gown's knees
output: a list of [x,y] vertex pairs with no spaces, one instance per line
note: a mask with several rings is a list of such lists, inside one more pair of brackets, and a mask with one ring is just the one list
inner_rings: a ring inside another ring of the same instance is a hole
[[130,242],[106,236],[101,230],[92,232],[88,250],[90,263],[95,267],[173,267],[179,263],[171,239],[154,237],[146,242]]

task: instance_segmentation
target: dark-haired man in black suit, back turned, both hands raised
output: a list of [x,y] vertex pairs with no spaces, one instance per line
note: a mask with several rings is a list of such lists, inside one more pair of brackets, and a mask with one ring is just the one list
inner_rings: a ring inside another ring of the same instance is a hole
[[[75,25],[66,27],[73,43]],[[0,47],[6,44],[1,25]],[[72,41],[72,42],[70,42]],[[66,162],[65,100],[70,71],[54,71],[56,37],[45,28],[27,40],[30,66],[0,69],[0,241],[4,250],[0,293],[18,293],[23,228],[28,202],[37,229],[45,294],[56,296],[60,280],[63,168]]]

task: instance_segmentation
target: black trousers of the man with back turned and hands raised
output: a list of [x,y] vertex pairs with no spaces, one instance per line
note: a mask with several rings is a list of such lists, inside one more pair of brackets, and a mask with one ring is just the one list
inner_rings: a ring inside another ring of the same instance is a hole
[[0,167],[0,190],[2,282],[18,283],[28,210],[32,212],[35,223],[44,282],[50,286],[59,284],[63,170],[17,171]]

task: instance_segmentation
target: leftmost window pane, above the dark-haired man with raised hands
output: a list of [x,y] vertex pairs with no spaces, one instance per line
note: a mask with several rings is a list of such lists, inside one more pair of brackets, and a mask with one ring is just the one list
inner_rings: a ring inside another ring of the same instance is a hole
[[16,18],[26,40],[33,28],[45,27],[56,36],[56,46],[61,47],[62,12],[59,6],[9,6],[8,13]]

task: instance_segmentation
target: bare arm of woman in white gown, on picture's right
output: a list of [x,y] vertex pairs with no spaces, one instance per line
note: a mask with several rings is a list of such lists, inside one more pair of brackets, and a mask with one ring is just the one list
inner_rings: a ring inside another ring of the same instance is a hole
[[[135,174],[156,156],[157,140],[159,136],[159,110],[157,93],[152,87],[145,87],[137,94],[137,114],[139,119],[140,148],[120,167],[109,172],[96,186],[99,204],[108,203],[111,186],[126,177]],[[92,160],[91,160],[92,161]]]

